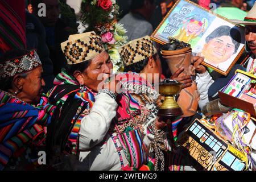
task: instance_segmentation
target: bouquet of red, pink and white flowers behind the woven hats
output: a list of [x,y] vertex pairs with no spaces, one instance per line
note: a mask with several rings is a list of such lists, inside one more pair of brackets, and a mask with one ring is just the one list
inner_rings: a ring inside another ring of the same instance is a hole
[[119,6],[115,0],[82,0],[81,22],[86,24],[86,31],[95,31],[101,36],[114,65],[114,72],[123,71],[118,47],[127,43],[126,30],[117,23],[118,14]]

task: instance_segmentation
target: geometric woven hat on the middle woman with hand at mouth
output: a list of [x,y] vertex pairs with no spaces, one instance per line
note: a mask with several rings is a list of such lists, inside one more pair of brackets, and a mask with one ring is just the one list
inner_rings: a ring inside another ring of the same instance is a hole
[[88,61],[105,51],[101,37],[94,31],[70,35],[67,41],[61,43],[61,49],[68,64]]

